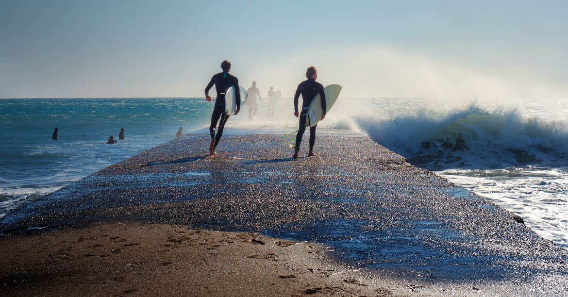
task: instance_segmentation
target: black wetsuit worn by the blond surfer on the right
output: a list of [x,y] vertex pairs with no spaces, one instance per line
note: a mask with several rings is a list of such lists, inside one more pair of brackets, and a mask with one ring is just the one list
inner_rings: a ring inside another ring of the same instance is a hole
[[[306,115],[308,114],[308,108],[310,108],[312,100],[314,100],[314,97],[316,97],[318,93],[321,94],[321,108],[323,109],[323,114],[325,114],[325,93],[321,83],[316,82],[314,78],[310,78],[307,81],[301,82],[298,85],[298,89],[296,89],[296,94],[294,95],[294,111],[298,111],[298,98],[300,97],[300,94],[302,94],[303,103],[302,112],[300,112],[300,129],[298,130],[298,134],[296,134],[295,149],[300,149],[302,136],[306,131]],[[310,127],[310,150],[314,148],[314,143],[316,142],[316,126]]]

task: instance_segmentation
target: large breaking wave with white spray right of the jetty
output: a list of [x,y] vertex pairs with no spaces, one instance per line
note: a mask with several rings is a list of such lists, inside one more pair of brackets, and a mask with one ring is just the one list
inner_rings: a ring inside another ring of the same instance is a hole
[[524,118],[516,109],[419,110],[381,118],[356,116],[377,143],[429,169],[565,165],[568,125]]

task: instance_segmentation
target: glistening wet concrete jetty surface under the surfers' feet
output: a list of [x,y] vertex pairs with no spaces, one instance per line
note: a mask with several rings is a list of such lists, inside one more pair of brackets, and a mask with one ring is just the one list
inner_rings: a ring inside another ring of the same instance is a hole
[[568,294],[566,250],[367,137],[318,136],[319,155],[298,160],[278,135],[224,137],[214,157],[207,142],[147,150],[11,212],[0,229],[110,219],[253,231],[327,244],[379,275]]

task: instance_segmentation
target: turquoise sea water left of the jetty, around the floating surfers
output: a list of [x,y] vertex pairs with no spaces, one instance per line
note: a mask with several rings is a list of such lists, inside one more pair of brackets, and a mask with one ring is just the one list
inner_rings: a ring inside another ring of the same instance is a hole
[[[0,216],[165,143],[180,126],[202,128],[209,113],[195,98],[0,99]],[[126,140],[106,144],[120,128]]]

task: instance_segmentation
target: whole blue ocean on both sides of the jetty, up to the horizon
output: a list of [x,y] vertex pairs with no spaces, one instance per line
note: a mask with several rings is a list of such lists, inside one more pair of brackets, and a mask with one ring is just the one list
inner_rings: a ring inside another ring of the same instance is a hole
[[[291,98],[268,102],[226,133],[295,130]],[[203,98],[0,99],[0,219],[78,179],[183,133],[207,148],[213,104]],[[568,249],[568,99],[339,98],[319,133],[362,133],[415,166],[521,216],[538,235]],[[59,128],[59,140],[52,140]],[[118,139],[120,128],[126,140]],[[291,130],[290,130],[291,129]],[[287,145],[290,137],[283,137]],[[304,141],[306,143],[307,141]],[[219,148],[222,150],[221,143]],[[318,143],[316,140],[316,150]],[[345,152],[346,156],[357,152]]]

